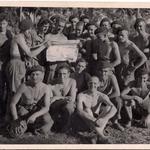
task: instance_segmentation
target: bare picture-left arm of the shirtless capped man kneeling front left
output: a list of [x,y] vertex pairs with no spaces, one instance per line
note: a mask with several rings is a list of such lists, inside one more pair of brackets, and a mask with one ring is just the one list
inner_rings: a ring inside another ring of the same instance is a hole
[[13,96],[11,103],[10,103],[10,113],[12,115],[13,120],[18,119],[18,115],[17,115],[17,109],[16,109],[16,105],[18,104],[23,92],[25,90],[25,85],[21,85],[16,94]]

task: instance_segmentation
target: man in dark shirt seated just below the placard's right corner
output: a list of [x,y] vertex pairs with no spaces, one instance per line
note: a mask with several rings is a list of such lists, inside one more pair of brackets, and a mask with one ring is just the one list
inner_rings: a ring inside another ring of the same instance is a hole
[[78,93],[87,90],[87,82],[90,79],[90,74],[86,72],[87,62],[84,59],[79,59],[75,72],[71,74],[71,77],[74,78],[77,82]]

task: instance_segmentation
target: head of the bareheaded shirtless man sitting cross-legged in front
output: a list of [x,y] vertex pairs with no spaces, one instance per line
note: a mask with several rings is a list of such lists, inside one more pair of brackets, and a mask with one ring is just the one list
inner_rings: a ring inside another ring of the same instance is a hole
[[91,92],[97,91],[97,88],[99,87],[99,85],[100,85],[100,82],[99,82],[98,77],[96,76],[92,76],[90,80],[88,81],[88,88]]

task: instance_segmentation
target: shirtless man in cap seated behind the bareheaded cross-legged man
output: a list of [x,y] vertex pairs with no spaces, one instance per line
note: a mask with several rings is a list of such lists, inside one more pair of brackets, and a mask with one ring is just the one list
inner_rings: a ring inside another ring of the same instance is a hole
[[123,131],[124,128],[118,122],[118,120],[121,119],[120,112],[122,108],[120,89],[117,79],[111,70],[112,67],[109,62],[101,62],[97,72],[97,76],[100,80],[100,86],[98,87],[98,91],[106,94],[110,98],[111,102],[117,107],[117,113],[116,116],[113,118],[113,122],[116,128]]

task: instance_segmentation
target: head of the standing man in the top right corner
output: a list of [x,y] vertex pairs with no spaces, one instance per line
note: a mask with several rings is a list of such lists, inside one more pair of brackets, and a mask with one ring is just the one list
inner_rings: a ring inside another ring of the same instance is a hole
[[143,18],[137,18],[134,24],[134,28],[137,32],[145,32],[146,23]]

